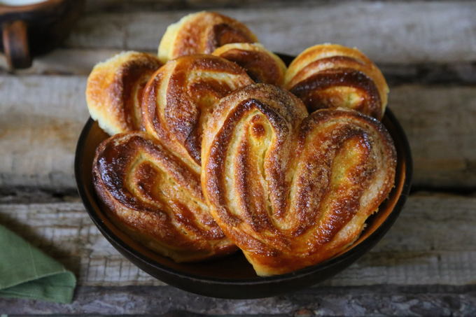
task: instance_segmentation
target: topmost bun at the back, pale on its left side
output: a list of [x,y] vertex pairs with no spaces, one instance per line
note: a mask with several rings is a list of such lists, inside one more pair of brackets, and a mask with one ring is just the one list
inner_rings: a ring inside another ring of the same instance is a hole
[[258,39],[243,23],[220,13],[202,11],[169,25],[160,41],[158,55],[165,63],[183,55],[211,54],[227,43],[254,42]]

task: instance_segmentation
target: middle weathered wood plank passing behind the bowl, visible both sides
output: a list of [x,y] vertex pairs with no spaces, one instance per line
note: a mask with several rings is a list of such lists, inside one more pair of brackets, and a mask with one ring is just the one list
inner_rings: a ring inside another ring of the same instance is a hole
[[[0,76],[0,188],[75,188],[73,155],[87,120],[85,76]],[[476,187],[474,86],[391,87],[389,106],[414,157],[414,185]]]

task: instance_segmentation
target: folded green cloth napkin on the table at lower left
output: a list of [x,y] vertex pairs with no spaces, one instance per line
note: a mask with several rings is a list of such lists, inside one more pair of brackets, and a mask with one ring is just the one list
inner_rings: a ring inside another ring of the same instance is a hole
[[70,303],[76,277],[0,225],[0,297]]

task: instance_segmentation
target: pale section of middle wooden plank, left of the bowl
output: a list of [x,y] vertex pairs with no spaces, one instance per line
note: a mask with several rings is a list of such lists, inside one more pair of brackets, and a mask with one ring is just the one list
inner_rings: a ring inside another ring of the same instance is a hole
[[85,78],[1,76],[0,187],[73,188]]

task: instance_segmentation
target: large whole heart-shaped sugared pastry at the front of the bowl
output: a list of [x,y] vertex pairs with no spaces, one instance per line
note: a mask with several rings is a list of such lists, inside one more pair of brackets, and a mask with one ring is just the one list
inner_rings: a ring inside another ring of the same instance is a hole
[[395,148],[379,121],[345,108],[308,116],[272,85],[223,98],[202,146],[211,215],[260,276],[344,251],[395,177]]

